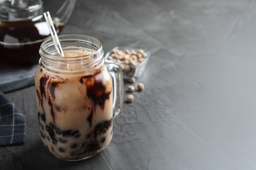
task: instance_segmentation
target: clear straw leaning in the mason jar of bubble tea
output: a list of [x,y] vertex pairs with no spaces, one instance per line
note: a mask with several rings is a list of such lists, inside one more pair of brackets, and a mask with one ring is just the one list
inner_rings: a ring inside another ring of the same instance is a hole
[[56,31],[55,31],[55,28],[54,28],[54,25],[53,25],[53,20],[51,18],[50,13],[49,12],[44,12],[43,16],[45,16],[45,20],[47,22],[49,31],[51,33],[51,36],[53,37],[53,44],[54,44],[54,46],[56,48],[57,53],[60,56],[64,56],[64,53],[63,53],[61,45],[60,45],[60,41],[58,41],[58,35],[57,35]]

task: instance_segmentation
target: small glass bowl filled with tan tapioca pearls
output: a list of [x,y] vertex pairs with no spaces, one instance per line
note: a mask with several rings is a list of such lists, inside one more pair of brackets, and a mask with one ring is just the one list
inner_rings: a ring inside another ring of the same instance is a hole
[[[121,52],[118,52],[120,50]],[[122,52],[123,54],[121,54]],[[144,54],[142,54],[142,49],[139,48],[116,46],[115,48],[107,52],[104,58],[106,62],[116,63],[121,68],[121,70],[123,71],[123,78],[131,78],[132,76],[140,77],[144,73],[146,65],[148,64],[148,59],[150,58],[150,52],[146,50],[143,50],[143,52]],[[139,53],[142,55],[140,55]],[[114,54],[117,54],[117,56],[119,56],[119,59],[115,59],[115,57],[113,59]],[[129,57],[127,54],[129,55]],[[133,55],[137,56],[137,61],[136,59],[134,59],[135,57]]]

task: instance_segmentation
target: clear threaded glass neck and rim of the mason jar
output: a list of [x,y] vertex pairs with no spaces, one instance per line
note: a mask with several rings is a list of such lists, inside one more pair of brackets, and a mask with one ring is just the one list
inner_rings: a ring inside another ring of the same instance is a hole
[[[98,39],[79,34],[59,35],[58,38],[62,49],[85,50],[88,54],[72,57],[56,55],[53,39],[49,37],[41,44],[39,49],[41,56],[39,63],[41,65],[58,71],[79,71],[79,69],[98,69],[104,64],[104,51],[102,43]],[[71,65],[74,67],[77,65],[77,69],[68,69]]]

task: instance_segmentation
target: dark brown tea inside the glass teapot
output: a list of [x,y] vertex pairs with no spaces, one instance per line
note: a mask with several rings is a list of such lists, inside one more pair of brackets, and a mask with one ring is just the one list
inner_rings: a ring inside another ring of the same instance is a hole
[[[56,31],[60,32],[64,23],[58,22]],[[32,65],[40,58],[38,50],[41,43],[49,37],[47,23],[41,18],[22,21],[0,22],[1,64]]]

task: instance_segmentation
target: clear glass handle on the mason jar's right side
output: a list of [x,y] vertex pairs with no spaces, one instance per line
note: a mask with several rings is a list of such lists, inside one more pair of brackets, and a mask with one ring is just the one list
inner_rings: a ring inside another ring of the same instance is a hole
[[123,106],[123,73],[114,63],[106,63],[106,67],[113,79],[113,117],[115,117]]

